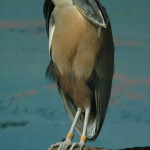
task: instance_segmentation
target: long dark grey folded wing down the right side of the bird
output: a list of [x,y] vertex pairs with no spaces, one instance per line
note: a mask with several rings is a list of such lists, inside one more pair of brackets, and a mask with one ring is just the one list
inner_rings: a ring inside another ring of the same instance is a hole
[[[89,126],[94,128],[93,136],[89,140],[95,140],[102,128],[110,99],[114,73],[114,43],[110,22],[106,29],[102,28],[101,36],[102,51],[98,56],[98,62],[94,69],[96,77],[93,79],[96,80],[96,82],[93,82],[93,92],[95,95],[92,99],[92,101],[95,101],[95,106],[93,107],[96,109],[96,114],[95,120],[89,124]],[[91,133],[89,132],[89,134]]]

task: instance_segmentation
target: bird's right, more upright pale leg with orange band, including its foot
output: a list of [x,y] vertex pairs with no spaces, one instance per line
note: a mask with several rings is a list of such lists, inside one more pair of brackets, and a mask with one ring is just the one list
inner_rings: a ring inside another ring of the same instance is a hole
[[73,143],[70,150],[73,150],[78,145],[80,147],[80,150],[83,149],[85,142],[86,142],[86,138],[87,138],[86,137],[86,131],[87,131],[87,126],[88,126],[90,111],[91,111],[90,107],[86,108],[86,110],[85,110],[85,119],[84,119],[83,131],[82,131],[82,135],[81,135],[79,144]]

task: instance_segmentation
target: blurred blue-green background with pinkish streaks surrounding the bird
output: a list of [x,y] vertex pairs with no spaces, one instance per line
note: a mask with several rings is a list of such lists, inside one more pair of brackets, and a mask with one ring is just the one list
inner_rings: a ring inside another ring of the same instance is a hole
[[[101,2],[112,23],[115,75],[103,128],[87,145],[148,146],[150,0]],[[43,3],[0,1],[0,150],[47,150],[71,125],[55,83],[44,76],[49,53]]]

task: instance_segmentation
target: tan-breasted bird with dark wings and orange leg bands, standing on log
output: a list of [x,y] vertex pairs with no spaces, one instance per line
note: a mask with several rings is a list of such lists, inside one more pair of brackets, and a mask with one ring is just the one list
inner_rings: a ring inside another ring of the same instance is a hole
[[[57,82],[72,120],[63,142],[49,150],[83,149],[102,128],[114,74],[114,42],[110,19],[98,0],[45,0],[50,63],[46,76]],[[72,142],[77,129],[80,141]]]

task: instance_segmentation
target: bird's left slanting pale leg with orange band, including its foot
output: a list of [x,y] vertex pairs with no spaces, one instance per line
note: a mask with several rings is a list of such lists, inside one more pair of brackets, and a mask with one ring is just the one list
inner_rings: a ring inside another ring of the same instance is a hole
[[73,121],[72,126],[70,128],[70,131],[67,134],[66,140],[64,142],[59,142],[59,143],[51,145],[49,150],[52,150],[54,147],[57,147],[57,146],[59,146],[58,150],[67,150],[67,148],[69,146],[71,146],[71,141],[73,139],[73,132],[75,130],[75,127],[76,127],[76,124],[77,124],[77,121],[78,121],[80,115],[81,115],[81,108],[77,108],[77,113],[75,115],[74,121]]

